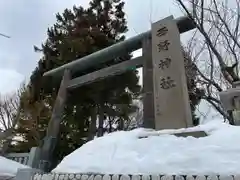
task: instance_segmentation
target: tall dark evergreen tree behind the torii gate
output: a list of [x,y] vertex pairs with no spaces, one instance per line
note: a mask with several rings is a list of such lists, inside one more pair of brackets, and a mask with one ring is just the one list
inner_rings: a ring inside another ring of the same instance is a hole
[[[56,15],[57,22],[48,29],[46,42],[42,44],[41,48],[35,47],[35,50],[43,53],[43,57],[31,76],[29,103],[44,101],[52,109],[59,81],[45,80],[42,77],[43,73],[125,39],[124,33],[127,32],[127,26],[123,6],[124,2],[120,0],[92,0],[87,9],[74,6],[73,10],[65,9],[62,14]],[[72,77],[130,58],[129,54],[125,54],[113,59],[111,63],[89,68],[79,74],[72,74]],[[59,160],[81,146],[88,140],[89,131],[96,134],[96,132],[92,132],[92,129],[89,129],[92,112],[95,112],[95,116],[99,117],[98,136],[101,136],[106,130],[103,127],[103,122],[109,117],[109,109],[114,110],[116,105],[125,104],[124,108],[119,106],[118,112],[121,113],[115,114],[115,116],[121,116],[121,119],[128,120],[127,114],[132,109],[132,98],[137,96],[139,92],[140,86],[136,70],[69,92],[59,141],[54,153],[55,158]],[[46,127],[46,121],[41,120],[42,118],[45,117],[40,114],[39,123],[43,123],[42,127]]]

